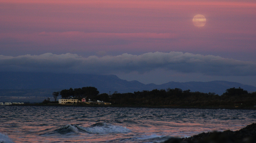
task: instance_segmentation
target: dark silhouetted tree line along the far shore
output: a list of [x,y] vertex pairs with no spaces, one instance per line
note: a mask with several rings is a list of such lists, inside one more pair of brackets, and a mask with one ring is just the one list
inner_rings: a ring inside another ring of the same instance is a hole
[[166,90],[137,91],[134,93],[99,94],[95,87],[82,87],[59,92],[61,98],[86,98],[111,102],[113,105],[145,105],[145,106],[255,106],[256,92],[248,93],[239,88],[227,89],[221,96],[215,93],[191,92],[179,88]]

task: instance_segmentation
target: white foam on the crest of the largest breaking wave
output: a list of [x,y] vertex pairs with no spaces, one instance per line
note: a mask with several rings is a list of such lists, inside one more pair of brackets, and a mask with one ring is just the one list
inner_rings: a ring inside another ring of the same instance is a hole
[[77,126],[79,129],[88,132],[90,134],[110,134],[110,133],[128,133],[131,132],[123,126],[114,126],[112,124],[104,123],[102,126],[92,126],[92,127],[81,127]]

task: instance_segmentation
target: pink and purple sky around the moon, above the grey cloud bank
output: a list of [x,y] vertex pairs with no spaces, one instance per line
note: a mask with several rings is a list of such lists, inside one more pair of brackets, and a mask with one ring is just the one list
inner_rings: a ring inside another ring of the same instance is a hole
[[[196,14],[206,17],[204,27],[193,25]],[[256,2],[0,0],[0,55],[157,51],[255,62]]]

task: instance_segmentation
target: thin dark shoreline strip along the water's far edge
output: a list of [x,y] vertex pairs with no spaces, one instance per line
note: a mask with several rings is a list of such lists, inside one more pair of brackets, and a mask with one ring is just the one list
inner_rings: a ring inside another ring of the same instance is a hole
[[48,107],[113,107],[113,108],[169,108],[169,109],[244,109],[256,110],[256,107],[185,107],[185,106],[145,106],[145,105],[85,105],[85,104],[12,104],[3,106],[48,106]]

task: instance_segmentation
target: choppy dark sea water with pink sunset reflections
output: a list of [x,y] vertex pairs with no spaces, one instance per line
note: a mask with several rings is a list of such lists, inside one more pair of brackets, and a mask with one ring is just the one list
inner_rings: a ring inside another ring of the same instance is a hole
[[161,143],[255,122],[255,110],[0,106],[0,143]]

